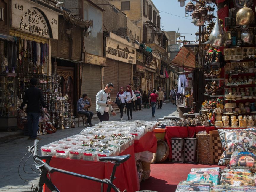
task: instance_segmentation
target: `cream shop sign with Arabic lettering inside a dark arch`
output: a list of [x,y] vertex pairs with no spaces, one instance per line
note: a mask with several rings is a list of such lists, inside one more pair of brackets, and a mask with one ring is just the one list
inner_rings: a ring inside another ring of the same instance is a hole
[[58,39],[58,14],[25,1],[12,1],[12,27],[45,38]]

